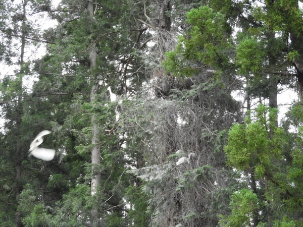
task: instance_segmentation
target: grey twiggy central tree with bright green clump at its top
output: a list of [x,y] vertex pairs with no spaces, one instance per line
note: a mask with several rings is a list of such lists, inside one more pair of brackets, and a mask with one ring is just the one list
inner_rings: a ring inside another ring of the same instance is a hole
[[[167,72],[183,86],[168,90],[163,100],[146,100],[142,93],[134,100],[138,108],[124,109],[133,116],[125,123],[130,135],[127,144],[144,149],[146,166],[131,173],[143,181],[152,226],[217,225],[216,210],[225,210],[228,203],[216,201],[228,193],[223,188],[233,184],[223,180],[229,173],[223,169],[221,139],[224,129],[237,120],[238,105],[226,86],[231,78],[219,72],[219,66],[226,64],[222,16],[200,7],[187,14],[187,23],[192,27],[164,62]],[[219,29],[215,38],[208,38],[215,29]],[[212,42],[221,44],[216,49]],[[194,155],[189,157],[190,153]],[[177,165],[182,156],[188,157],[187,162]]]

